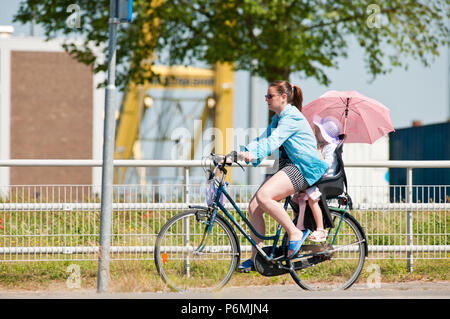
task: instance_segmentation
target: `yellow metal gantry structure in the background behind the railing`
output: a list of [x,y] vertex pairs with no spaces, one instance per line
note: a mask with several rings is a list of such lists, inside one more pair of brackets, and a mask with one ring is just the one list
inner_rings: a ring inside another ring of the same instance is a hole
[[[136,158],[133,147],[139,138],[139,126],[144,117],[146,107],[144,98],[149,89],[209,89],[216,99],[214,110],[205,103],[202,123],[214,113],[214,127],[221,132],[215,137],[215,152],[228,153],[232,149],[232,138],[227,138],[227,131],[233,127],[233,86],[234,74],[230,64],[216,64],[213,69],[184,66],[153,66],[153,71],[159,74],[159,81],[143,85],[130,83],[124,96],[120,111],[115,145],[115,159]],[[204,127],[204,126],[203,126]],[[228,129],[228,130],[227,130]],[[200,131],[199,133],[203,133]],[[221,138],[220,138],[221,137]],[[198,141],[199,138],[194,138]],[[192,144],[193,145],[193,144]],[[195,145],[191,149],[191,158],[195,154]],[[120,168],[114,174],[115,183],[122,183],[126,168]],[[231,172],[227,177],[231,181]]]

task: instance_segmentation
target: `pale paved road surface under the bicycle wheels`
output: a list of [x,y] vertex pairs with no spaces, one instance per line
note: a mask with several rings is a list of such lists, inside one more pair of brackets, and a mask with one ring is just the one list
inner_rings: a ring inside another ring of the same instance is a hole
[[450,299],[450,282],[366,284],[337,292],[304,291],[296,285],[225,287],[216,293],[97,293],[92,290],[17,292],[0,290],[0,299]]

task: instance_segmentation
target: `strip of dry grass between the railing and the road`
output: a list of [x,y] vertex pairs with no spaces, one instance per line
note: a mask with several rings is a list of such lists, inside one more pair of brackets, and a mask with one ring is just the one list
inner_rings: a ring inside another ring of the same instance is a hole
[[[367,260],[358,283],[368,282],[373,264],[381,273],[381,282],[450,281],[448,260],[415,260],[408,273],[404,260]],[[0,264],[1,290],[76,290],[96,289],[96,261],[13,262]],[[111,263],[111,292],[156,292],[168,290],[152,261],[114,261]],[[326,274],[325,274],[326,275]],[[286,285],[294,281],[289,275],[263,277],[257,272],[235,273],[230,286]]]

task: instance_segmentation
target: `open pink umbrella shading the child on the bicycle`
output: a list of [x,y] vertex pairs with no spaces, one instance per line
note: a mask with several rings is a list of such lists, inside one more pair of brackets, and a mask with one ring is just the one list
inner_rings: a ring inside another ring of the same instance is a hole
[[314,115],[341,121],[346,143],[369,143],[394,131],[389,109],[356,91],[328,91],[302,108],[312,127]]

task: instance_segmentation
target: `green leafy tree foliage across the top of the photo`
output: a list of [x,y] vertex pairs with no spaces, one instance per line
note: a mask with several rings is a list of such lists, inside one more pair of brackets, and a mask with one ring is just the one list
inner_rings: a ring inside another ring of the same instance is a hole
[[[93,47],[108,40],[109,1],[77,1],[80,28],[69,27],[73,0],[22,0],[15,21],[35,19],[48,38],[79,35],[65,48],[95,72],[105,71]],[[298,73],[328,85],[327,68],[338,68],[352,38],[365,51],[374,79],[412,56],[424,65],[448,46],[449,0],[309,1],[171,0],[134,1],[134,18],[118,36],[117,81],[124,87],[153,77],[152,63],[234,62],[266,80]],[[162,57],[162,52],[168,52]],[[155,54],[156,53],[156,54]]]

